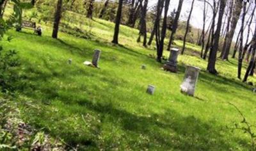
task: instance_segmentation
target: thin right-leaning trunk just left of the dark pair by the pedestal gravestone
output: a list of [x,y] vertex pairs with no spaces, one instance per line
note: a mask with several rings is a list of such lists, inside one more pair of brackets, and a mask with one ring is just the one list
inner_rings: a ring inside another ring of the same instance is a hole
[[158,0],[158,2],[157,2],[157,11],[156,11],[156,19],[155,19],[155,22],[154,22],[154,27],[151,31],[150,38],[148,40],[148,45],[152,44],[154,36],[156,35],[157,26],[159,26],[162,12],[163,12],[163,0]]

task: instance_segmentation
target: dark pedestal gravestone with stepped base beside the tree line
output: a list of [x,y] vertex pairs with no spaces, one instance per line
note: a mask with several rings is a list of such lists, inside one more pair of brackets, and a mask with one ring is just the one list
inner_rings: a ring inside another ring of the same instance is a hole
[[177,72],[177,58],[179,56],[179,49],[172,48],[169,56],[169,60],[164,64],[164,70],[170,72]]

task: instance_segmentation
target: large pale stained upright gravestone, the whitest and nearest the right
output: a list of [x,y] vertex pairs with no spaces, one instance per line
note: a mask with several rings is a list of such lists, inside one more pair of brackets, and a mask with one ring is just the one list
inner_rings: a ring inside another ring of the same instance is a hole
[[197,79],[199,76],[200,68],[187,66],[184,81],[180,85],[180,91],[187,95],[194,96]]

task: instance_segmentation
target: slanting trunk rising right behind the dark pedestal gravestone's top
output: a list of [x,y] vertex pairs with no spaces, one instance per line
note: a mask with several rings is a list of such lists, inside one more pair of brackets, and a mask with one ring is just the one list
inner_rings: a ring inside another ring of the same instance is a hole
[[169,44],[168,44],[168,47],[167,47],[168,51],[170,51],[170,48],[172,47],[173,37],[174,37],[174,35],[177,31],[177,28],[178,28],[180,12],[181,12],[181,9],[182,9],[182,4],[183,4],[183,0],[179,0],[178,9],[177,9],[175,19],[174,19],[174,22],[173,22],[173,25],[172,25],[172,33],[171,33]]

